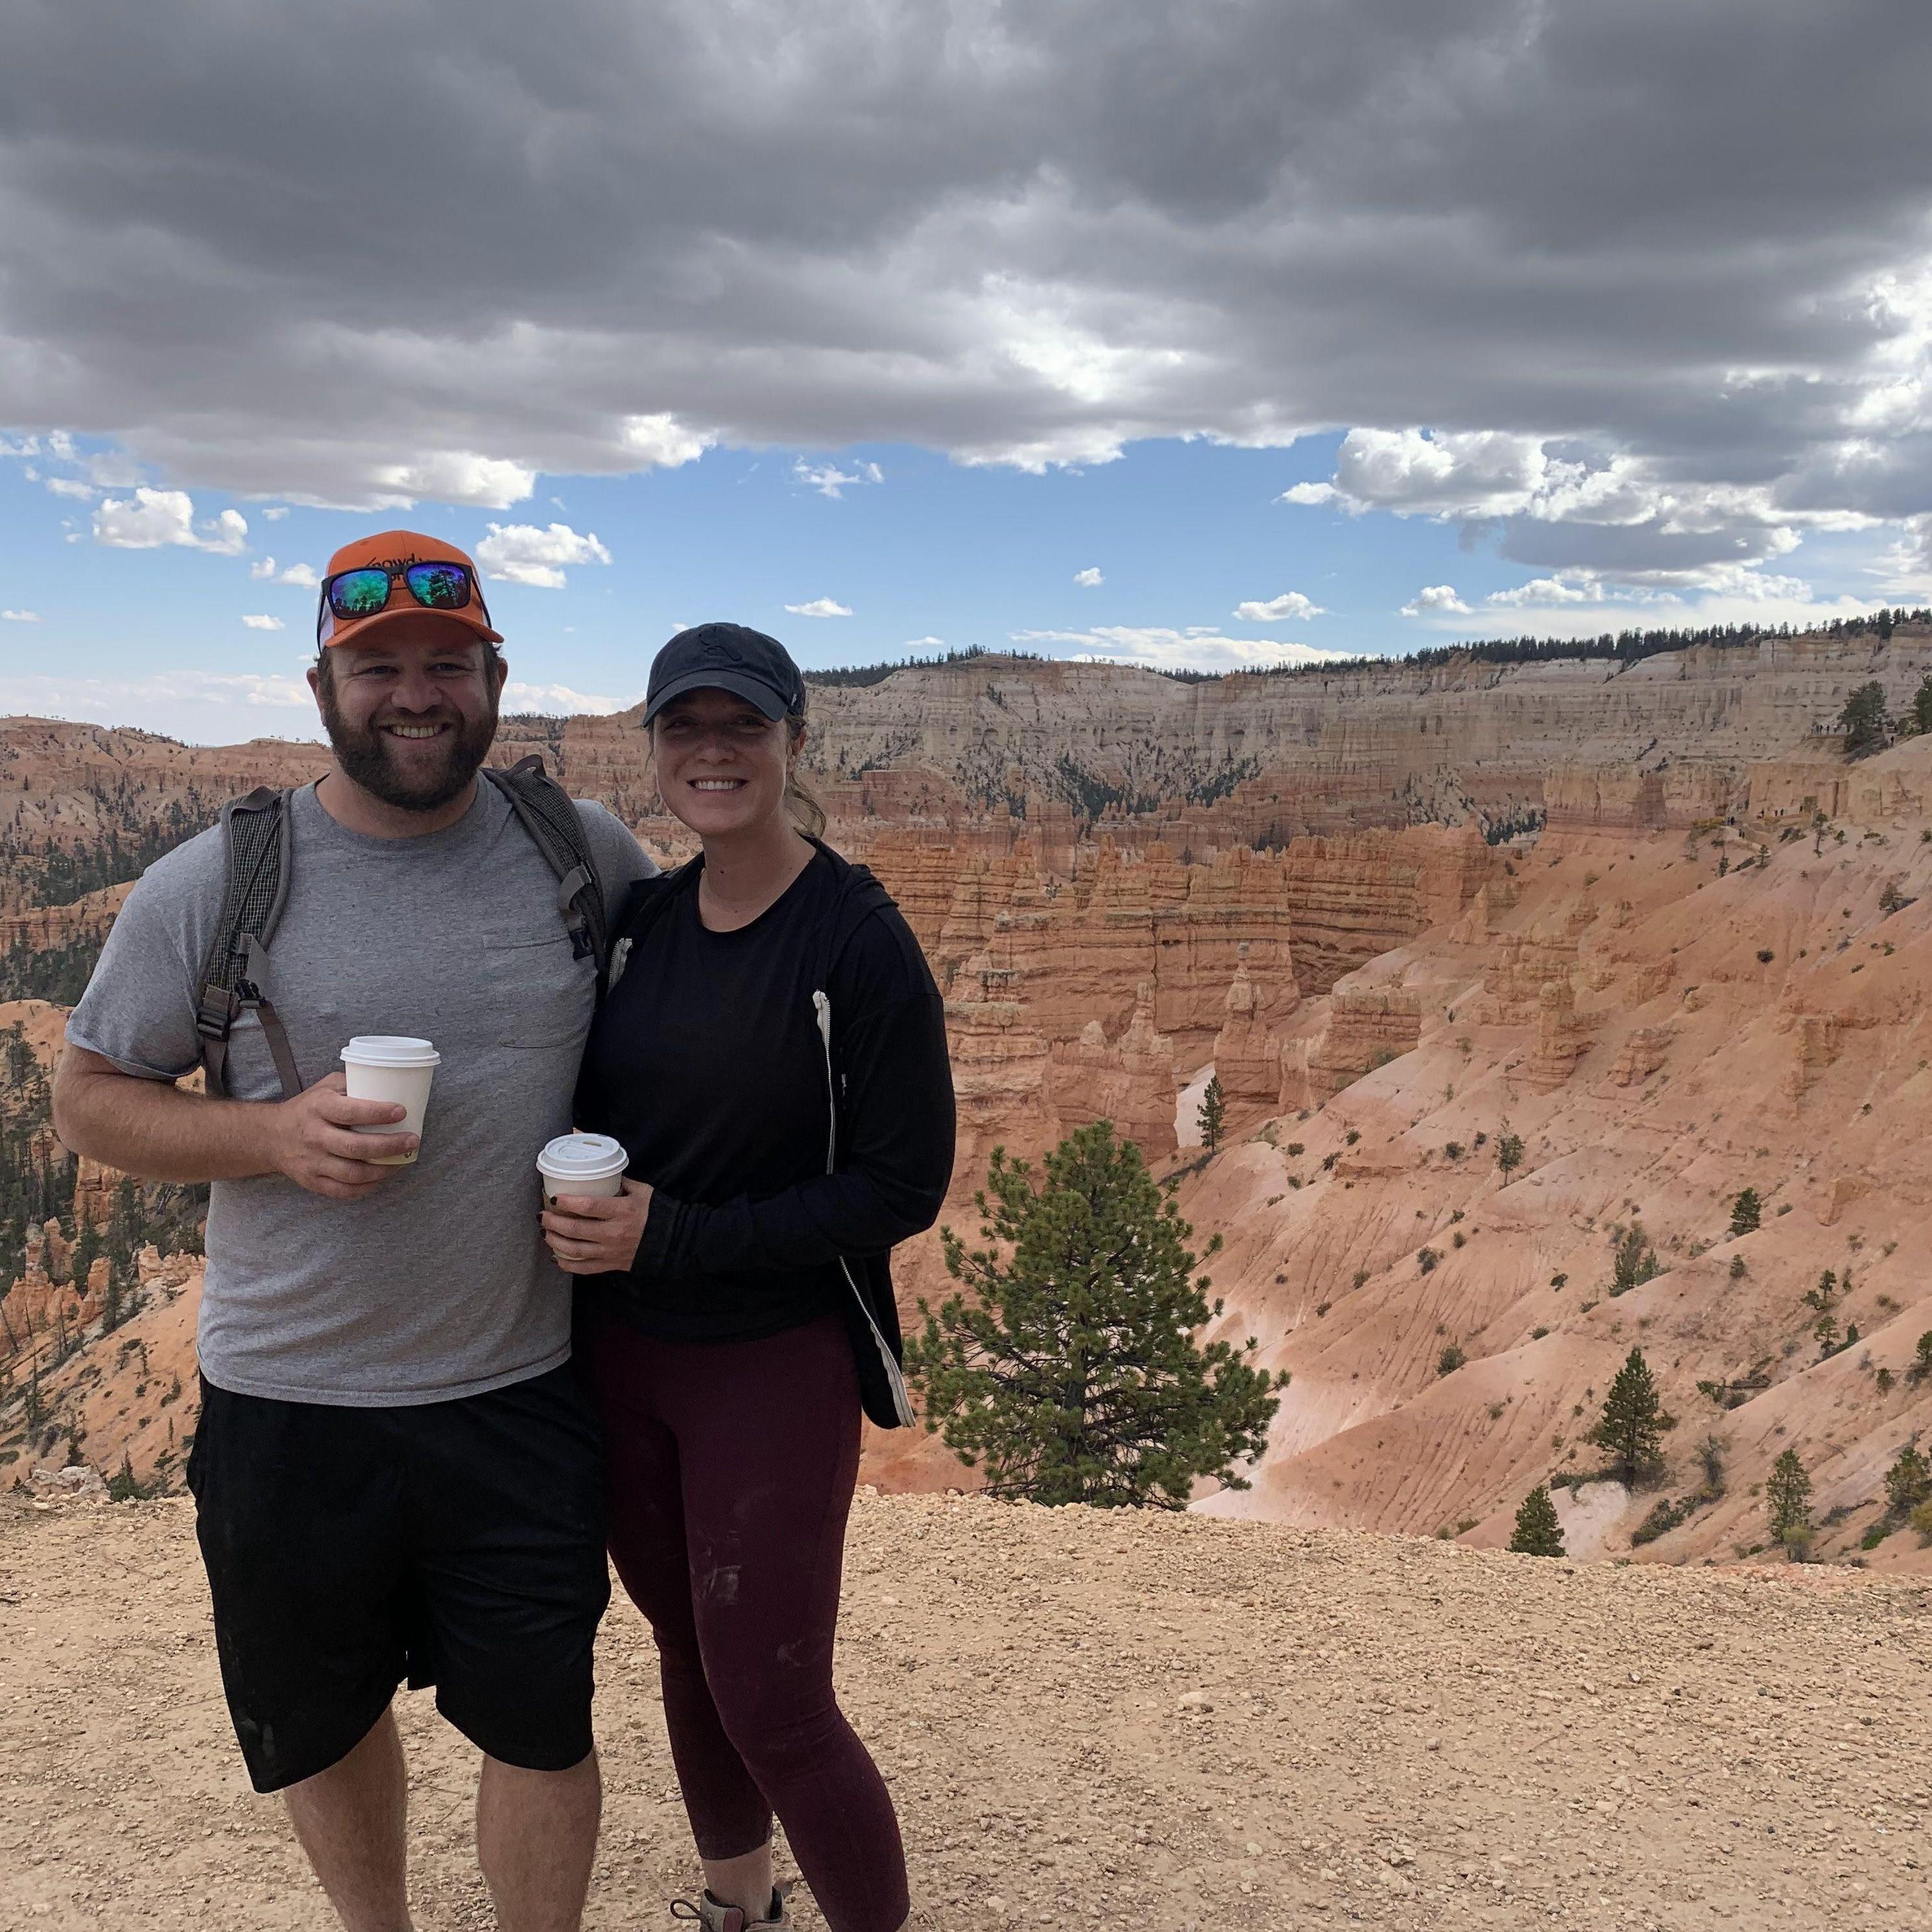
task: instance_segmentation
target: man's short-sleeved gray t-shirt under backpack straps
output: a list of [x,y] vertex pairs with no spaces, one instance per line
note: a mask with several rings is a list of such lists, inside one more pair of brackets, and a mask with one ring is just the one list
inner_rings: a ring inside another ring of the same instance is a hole
[[[614,912],[655,867],[603,806],[578,811]],[[570,1279],[543,1246],[533,1161],[570,1132],[595,999],[556,877],[493,784],[423,838],[352,833],[303,786],[292,837],[263,991],[303,1086],[342,1070],[354,1034],[415,1034],[442,1065],[421,1153],[363,1200],[280,1175],[214,1182],[203,1374],[238,1395],[348,1408],[541,1376],[570,1356]],[[222,873],[218,829],[149,866],[68,1039],[141,1078],[195,1068],[195,985]],[[236,1099],[282,1097],[253,1012],[236,1022],[228,1086]]]

